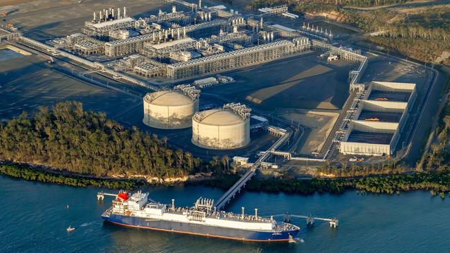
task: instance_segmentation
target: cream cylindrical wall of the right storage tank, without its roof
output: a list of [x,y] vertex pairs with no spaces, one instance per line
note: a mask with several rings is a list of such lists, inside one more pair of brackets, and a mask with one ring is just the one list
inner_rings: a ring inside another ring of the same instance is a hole
[[237,149],[250,143],[250,120],[217,126],[192,119],[192,143],[207,149]]

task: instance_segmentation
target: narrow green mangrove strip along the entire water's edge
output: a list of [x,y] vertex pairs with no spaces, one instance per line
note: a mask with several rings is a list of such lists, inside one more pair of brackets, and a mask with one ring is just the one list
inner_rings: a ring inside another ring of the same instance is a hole
[[[222,178],[203,178],[185,182],[151,183],[143,179],[132,178],[98,178],[94,176],[63,174],[60,171],[39,170],[31,165],[14,163],[0,164],[0,174],[28,181],[52,182],[73,187],[106,187],[109,189],[134,190],[139,187],[174,187],[197,186],[228,189],[239,178],[239,175],[228,174]],[[433,196],[445,198],[450,193],[450,171],[440,171],[433,174],[390,174],[372,175],[354,178],[311,178],[283,179],[254,178],[246,186],[249,191],[265,193],[285,193],[311,195],[315,193],[343,194],[347,190],[356,190],[361,194],[399,194],[400,192],[422,190],[430,191]]]

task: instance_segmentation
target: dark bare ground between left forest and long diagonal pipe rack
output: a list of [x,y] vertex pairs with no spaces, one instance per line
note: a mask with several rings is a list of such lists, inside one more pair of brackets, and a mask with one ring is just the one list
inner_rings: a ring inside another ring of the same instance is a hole
[[0,120],[66,100],[80,101],[84,109],[105,111],[108,116],[141,102],[59,73],[46,64],[45,57],[35,53],[0,61],[0,70]]

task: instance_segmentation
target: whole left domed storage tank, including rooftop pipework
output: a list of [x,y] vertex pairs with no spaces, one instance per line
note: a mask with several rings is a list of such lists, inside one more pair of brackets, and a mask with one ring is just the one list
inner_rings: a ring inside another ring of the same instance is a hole
[[199,90],[190,85],[147,93],[144,97],[144,124],[157,129],[190,127],[192,115],[199,111],[199,94]]

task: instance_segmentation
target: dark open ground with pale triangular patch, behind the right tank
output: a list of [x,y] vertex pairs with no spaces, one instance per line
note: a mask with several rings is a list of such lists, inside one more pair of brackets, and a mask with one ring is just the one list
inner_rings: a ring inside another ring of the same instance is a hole
[[348,71],[353,64],[304,55],[228,73],[235,79],[205,89],[260,109],[341,109],[348,97]]

